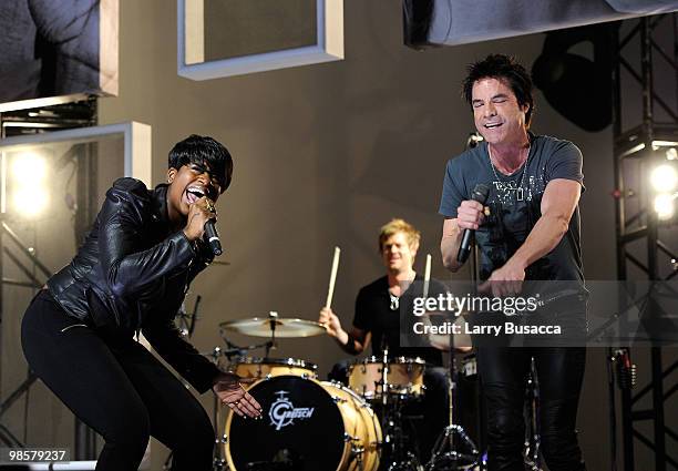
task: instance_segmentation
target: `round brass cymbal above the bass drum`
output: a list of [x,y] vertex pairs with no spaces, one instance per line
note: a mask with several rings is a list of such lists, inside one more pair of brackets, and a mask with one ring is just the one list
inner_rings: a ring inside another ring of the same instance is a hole
[[271,322],[275,322],[277,338],[314,337],[327,332],[319,322],[284,317],[250,317],[248,319],[227,320],[219,324],[219,327],[224,330],[251,337],[271,337]]

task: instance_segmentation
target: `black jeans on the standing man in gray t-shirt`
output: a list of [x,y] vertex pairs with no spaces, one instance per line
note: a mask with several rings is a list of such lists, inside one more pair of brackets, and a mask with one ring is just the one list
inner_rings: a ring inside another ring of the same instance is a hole
[[582,471],[576,418],[584,347],[481,347],[477,366],[487,409],[490,471],[524,471],[525,380],[534,357],[540,385],[542,454],[551,471]]

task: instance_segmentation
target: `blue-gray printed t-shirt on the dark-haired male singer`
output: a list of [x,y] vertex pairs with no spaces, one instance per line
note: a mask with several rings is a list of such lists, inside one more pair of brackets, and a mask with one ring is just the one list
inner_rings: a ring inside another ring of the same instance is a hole
[[[448,162],[440,202],[443,216],[455,218],[456,208],[462,201],[471,199],[476,184],[490,186],[485,206],[491,213],[475,232],[481,280],[502,267],[523,244],[541,217],[542,196],[548,182],[567,178],[583,186],[582,152],[577,146],[549,136],[530,134],[530,139],[527,162],[511,176],[500,171],[495,176],[485,142]],[[558,245],[527,267],[525,277],[528,280],[574,280],[583,287],[578,206]]]

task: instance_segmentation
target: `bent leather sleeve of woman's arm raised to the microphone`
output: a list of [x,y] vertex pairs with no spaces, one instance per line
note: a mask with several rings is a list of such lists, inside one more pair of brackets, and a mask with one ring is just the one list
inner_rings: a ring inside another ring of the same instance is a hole
[[183,231],[142,249],[150,217],[151,199],[142,182],[120,178],[106,193],[99,214],[99,258],[114,296],[134,298],[148,284],[187,269],[196,255]]

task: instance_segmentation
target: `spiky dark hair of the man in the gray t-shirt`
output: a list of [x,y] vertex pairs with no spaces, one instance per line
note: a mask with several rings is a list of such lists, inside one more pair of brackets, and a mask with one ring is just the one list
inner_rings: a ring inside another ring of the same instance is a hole
[[482,79],[496,79],[503,81],[513,91],[518,105],[527,105],[525,125],[530,127],[534,112],[534,96],[532,95],[532,79],[523,65],[515,58],[503,54],[490,54],[482,61],[469,65],[469,75],[462,83],[462,96],[472,105],[473,84]]

